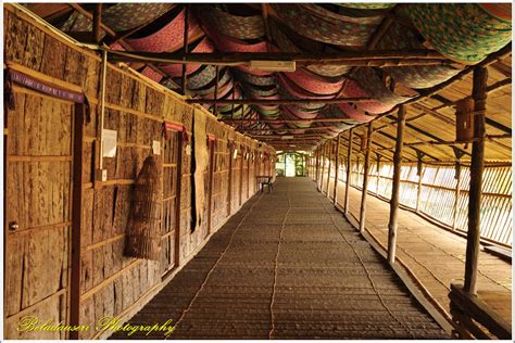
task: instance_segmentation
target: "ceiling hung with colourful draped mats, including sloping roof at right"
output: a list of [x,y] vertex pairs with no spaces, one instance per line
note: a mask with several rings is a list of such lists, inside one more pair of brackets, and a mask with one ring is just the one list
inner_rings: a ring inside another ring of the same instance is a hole
[[[91,41],[96,4],[25,5]],[[126,53],[113,61],[179,92],[187,61],[191,101],[278,150],[312,150],[352,127],[360,144],[373,122],[373,149],[391,160],[405,104],[407,161],[469,160],[455,102],[472,94],[473,66],[488,65],[486,158],[511,161],[510,3],[106,3],[101,21],[101,43]]]

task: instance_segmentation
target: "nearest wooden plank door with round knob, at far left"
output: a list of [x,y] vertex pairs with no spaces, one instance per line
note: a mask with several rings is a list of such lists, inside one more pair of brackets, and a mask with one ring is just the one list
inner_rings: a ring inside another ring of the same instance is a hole
[[4,336],[65,339],[62,331],[16,329],[25,316],[70,322],[75,104],[13,90],[4,131]]

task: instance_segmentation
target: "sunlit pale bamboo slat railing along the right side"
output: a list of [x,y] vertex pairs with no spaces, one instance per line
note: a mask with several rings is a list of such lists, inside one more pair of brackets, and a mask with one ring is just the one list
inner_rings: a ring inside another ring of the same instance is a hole
[[[346,166],[340,166],[340,180],[344,181]],[[389,200],[392,186],[392,164],[382,162],[377,173],[377,164],[370,166],[367,190]],[[351,186],[362,188],[363,164],[353,165]],[[469,169],[462,167],[460,191],[456,200],[455,168],[449,166],[425,165],[422,175],[422,189],[418,193],[417,166],[403,166],[401,170],[400,203],[417,211],[439,224],[457,231],[467,231]],[[417,208],[418,203],[418,208]],[[506,247],[512,246],[512,168],[485,167],[481,206],[481,239]]]

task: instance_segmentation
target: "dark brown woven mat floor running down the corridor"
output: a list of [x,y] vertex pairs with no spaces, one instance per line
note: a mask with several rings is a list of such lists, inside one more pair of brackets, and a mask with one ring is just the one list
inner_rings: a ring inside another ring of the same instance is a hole
[[247,202],[129,322],[168,319],[169,339],[447,338],[309,178]]

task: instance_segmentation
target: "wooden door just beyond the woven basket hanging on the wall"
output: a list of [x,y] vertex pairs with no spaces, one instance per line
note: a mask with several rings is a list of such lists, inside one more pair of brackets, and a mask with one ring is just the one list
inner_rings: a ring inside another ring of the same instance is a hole
[[163,205],[162,205],[162,242],[161,242],[161,275],[165,276],[176,265],[176,242],[177,234],[177,196],[179,193],[179,144],[180,134],[168,130],[168,138],[163,139]]

